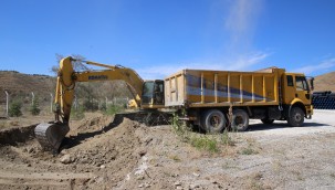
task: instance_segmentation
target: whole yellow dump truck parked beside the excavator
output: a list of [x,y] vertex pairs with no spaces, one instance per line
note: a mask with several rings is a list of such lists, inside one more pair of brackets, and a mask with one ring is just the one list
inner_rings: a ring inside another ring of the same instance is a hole
[[[180,119],[207,133],[227,127],[247,130],[249,119],[287,120],[293,127],[312,118],[313,78],[270,67],[257,72],[182,70],[165,78],[165,106],[184,109]],[[181,112],[180,112],[181,113]]]

